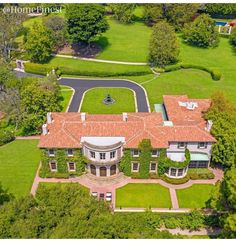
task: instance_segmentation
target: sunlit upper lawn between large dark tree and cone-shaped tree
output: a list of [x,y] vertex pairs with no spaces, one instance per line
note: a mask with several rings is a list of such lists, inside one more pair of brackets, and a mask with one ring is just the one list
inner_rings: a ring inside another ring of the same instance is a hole
[[98,40],[102,52],[99,59],[147,62],[151,28],[142,22],[121,24],[109,18],[109,30]]

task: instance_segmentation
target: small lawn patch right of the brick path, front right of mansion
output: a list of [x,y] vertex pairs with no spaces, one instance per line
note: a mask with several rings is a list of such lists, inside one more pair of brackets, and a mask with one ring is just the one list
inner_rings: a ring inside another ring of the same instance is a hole
[[214,185],[199,184],[176,190],[180,208],[206,208]]

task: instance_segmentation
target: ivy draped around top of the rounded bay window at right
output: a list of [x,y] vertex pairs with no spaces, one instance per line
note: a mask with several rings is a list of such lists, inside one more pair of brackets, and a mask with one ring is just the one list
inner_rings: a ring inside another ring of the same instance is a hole
[[183,162],[176,162],[171,160],[166,156],[166,149],[160,150],[160,157],[158,159],[158,174],[163,175],[167,169],[170,167],[174,168],[184,168],[188,166],[190,162],[190,152],[188,149],[185,149],[185,160]]

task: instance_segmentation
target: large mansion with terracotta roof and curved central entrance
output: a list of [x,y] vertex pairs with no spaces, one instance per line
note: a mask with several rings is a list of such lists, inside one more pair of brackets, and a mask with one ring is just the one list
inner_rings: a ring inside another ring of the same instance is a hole
[[210,106],[208,99],[189,99],[183,96],[163,96],[163,105],[151,113],[123,113],[118,115],[92,115],[87,113],[48,113],[47,123],[39,147],[46,149],[51,171],[57,171],[53,159],[57,149],[64,149],[68,157],[68,171],[75,170],[70,162],[75,149],[87,157],[86,169],[95,176],[119,173],[119,162],[126,149],[132,155],[131,171],[139,172],[139,143],[149,139],[152,145],[150,172],[158,171],[160,149],[166,156],[182,163],[185,149],[190,151],[186,167],[170,167],[166,175],[182,178],[188,168],[207,168],[211,158],[214,137],[210,134],[211,121],[202,118]]

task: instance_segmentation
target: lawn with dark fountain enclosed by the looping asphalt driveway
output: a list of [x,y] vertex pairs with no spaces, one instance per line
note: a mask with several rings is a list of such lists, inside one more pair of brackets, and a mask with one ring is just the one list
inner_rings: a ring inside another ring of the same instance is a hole
[[[105,105],[103,99],[110,94],[115,100],[111,105]],[[82,103],[82,112],[91,114],[121,114],[135,112],[133,91],[125,88],[96,88],[86,92]]]

